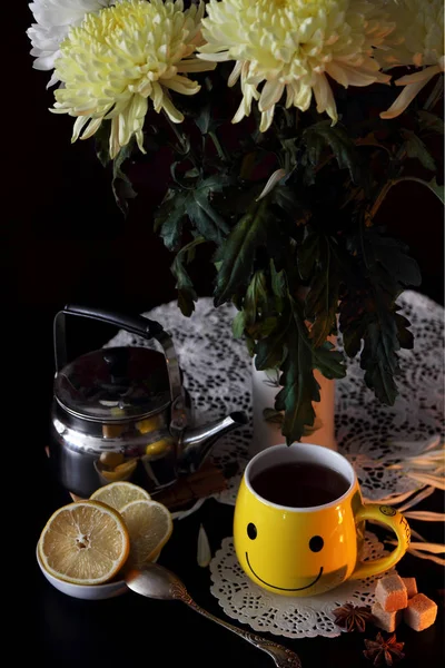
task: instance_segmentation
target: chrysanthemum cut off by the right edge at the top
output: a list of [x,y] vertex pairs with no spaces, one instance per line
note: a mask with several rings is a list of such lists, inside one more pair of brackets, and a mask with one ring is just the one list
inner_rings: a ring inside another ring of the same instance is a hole
[[396,86],[404,90],[382,118],[399,116],[416,95],[436,75],[445,70],[443,0],[388,0],[386,4],[396,29],[382,50],[387,69],[414,65],[424,68],[400,77]]

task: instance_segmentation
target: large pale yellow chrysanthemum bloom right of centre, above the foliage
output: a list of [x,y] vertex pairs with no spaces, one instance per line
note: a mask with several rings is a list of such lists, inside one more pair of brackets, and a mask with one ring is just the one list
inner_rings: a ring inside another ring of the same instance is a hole
[[207,14],[202,36],[208,43],[198,57],[236,60],[228,84],[241,77],[243,101],[234,122],[248,116],[253,100],[258,100],[260,130],[267,130],[285,91],[286,107],[301,111],[314,94],[317,111],[326,111],[335,122],[327,75],[345,88],[390,78],[373,57],[373,47],[394,29],[378,1],[210,0]]

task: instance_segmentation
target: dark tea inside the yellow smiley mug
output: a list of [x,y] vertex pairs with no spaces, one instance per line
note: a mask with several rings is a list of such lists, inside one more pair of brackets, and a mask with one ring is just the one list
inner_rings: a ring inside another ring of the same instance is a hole
[[250,484],[263,499],[289,508],[324,505],[349,489],[342,473],[313,462],[275,464],[259,471]]

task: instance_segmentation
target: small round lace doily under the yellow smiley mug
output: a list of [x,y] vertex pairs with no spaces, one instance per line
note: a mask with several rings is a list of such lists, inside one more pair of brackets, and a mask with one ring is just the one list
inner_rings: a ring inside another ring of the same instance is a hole
[[[365,532],[364,559],[385,554],[374,533]],[[394,569],[387,572],[396,572]],[[335,638],[343,632],[333,610],[346,602],[372,606],[377,577],[348,580],[326,593],[294,598],[270,593],[251,582],[235,554],[231,538],[225,538],[210,562],[210,591],[229,617],[249,625],[255,631],[268,631],[287,638]]]

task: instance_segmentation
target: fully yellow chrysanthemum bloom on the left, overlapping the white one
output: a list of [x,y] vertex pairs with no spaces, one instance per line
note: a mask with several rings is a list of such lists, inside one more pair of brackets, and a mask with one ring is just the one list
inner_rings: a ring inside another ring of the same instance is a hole
[[184,120],[169,90],[195,95],[200,86],[187,73],[215,67],[195,55],[202,43],[204,9],[202,2],[184,11],[182,0],[123,0],[89,13],[70,30],[56,61],[63,87],[55,91],[52,111],[78,117],[72,141],[83,128],[81,139],[91,137],[105,118],[111,118],[110,156],[132,135],[145,153],[148,98],[156,111],[164,109],[174,122]]

